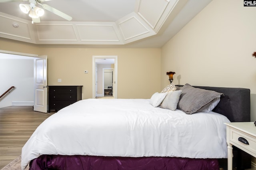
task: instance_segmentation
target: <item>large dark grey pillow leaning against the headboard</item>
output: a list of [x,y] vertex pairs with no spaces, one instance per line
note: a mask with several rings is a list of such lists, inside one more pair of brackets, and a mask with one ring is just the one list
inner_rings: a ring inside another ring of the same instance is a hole
[[204,105],[223,94],[212,90],[195,88],[189,84],[185,84],[180,90],[182,90],[182,95],[177,109],[188,114],[198,112]]

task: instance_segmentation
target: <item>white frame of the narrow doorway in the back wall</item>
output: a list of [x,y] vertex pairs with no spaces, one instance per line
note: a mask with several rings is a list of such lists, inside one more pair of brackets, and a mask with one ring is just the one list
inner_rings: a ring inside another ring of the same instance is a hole
[[117,60],[117,58],[118,58],[118,56],[117,55],[93,55],[92,56],[92,99],[96,98],[96,88],[95,88],[95,84],[96,84],[96,82],[95,82],[96,62],[95,62],[95,60],[96,59],[104,59],[104,58],[113,58],[113,59],[115,59],[115,62],[114,62],[115,81],[114,81],[114,87],[113,87],[114,91],[112,93],[114,94],[113,97],[115,99],[117,99],[118,98],[118,93],[117,93],[117,91],[118,91],[118,89],[117,89],[117,87],[118,87],[118,65],[117,65],[118,60]]

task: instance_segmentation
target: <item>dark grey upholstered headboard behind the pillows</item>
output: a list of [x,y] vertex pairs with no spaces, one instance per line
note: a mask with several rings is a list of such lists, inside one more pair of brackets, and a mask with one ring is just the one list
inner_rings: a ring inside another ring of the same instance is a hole
[[[177,85],[181,87],[182,85]],[[250,122],[250,89],[230,87],[193,86],[223,93],[214,112],[226,116],[231,122]]]

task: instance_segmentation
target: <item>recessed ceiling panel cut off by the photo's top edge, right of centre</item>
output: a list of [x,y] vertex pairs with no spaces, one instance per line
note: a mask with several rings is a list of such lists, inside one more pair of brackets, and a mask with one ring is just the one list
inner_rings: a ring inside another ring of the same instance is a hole
[[140,0],[138,14],[154,29],[169,0]]

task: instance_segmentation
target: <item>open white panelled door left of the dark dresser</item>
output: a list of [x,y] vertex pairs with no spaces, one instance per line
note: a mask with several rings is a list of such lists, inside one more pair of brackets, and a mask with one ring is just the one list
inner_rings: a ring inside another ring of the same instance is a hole
[[47,113],[47,55],[34,59],[34,111]]

